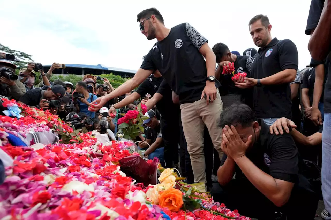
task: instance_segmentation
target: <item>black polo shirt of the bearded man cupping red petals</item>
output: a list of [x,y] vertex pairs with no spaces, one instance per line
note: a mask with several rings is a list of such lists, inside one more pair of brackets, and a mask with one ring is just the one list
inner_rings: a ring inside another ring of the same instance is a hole
[[[274,38],[260,48],[252,61],[252,77],[262,79],[285,69],[298,69],[298,50],[290,40]],[[291,88],[289,83],[254,87],[253,110],[260,118],[291,118]]]

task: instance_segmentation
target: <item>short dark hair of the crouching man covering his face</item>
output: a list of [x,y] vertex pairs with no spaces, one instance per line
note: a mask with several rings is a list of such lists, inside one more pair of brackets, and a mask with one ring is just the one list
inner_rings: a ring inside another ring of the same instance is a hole
[[236,127],[238,124],[247,128],[256,120],[254,112],[248,105],[232,104],[221,112],[217,124],[219,128],[224,128],[226,125]]

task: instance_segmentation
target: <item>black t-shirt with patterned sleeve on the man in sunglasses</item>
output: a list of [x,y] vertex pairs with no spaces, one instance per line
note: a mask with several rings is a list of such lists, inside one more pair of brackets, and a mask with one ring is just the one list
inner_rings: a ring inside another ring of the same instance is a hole
[[171,28],[168,36],[158,41],[146,55],[140,68],[159,70],[180,103],[201,98],[206,86],[206,61],[199,49],[208,40],[189,23]]

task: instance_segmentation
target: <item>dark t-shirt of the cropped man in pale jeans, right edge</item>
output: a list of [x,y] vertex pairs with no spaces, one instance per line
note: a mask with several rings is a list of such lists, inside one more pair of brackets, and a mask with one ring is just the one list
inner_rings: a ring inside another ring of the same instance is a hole
[[[323,10],[324,0],[311,0],[305,33],[315,29]],[[325,59],[324,113],[331,113],[331,53]]]

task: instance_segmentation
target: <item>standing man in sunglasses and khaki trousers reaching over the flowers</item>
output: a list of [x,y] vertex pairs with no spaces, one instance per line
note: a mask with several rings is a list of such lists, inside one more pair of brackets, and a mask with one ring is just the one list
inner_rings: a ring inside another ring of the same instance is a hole
[[206,182],[203,153],[205,125],[220,158],[223,155],[220,148],[222,132],[216,125],[223,104],[215,87],[215,54],[208,46],[208,40],[189,23],[166,28],[156,8],[140,12],[137,21],[141,33],[148,40],[156,38],[158,42],[145,57],[135,76],[109,95],[92,102],[98,104],[92,105],[90,110],[96,111],[108,100],[133,90],[158,69],[166,83],[179,95],[194,181]]

